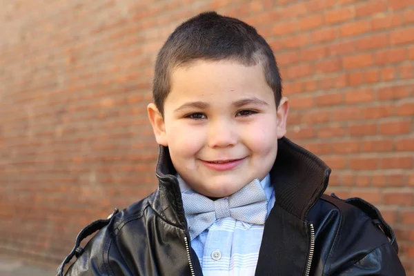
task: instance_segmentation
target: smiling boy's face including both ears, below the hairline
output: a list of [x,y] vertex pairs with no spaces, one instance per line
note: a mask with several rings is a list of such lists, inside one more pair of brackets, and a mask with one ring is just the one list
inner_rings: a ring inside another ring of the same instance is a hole
[[275,106],[258,63],[197,61],[171,75],[164,119],[153,103],[148,115],[157,143],[168,146],[186,183],[208,197],[226,197],[262,180],[286,133],[288,102]]

